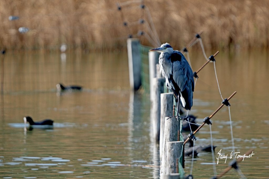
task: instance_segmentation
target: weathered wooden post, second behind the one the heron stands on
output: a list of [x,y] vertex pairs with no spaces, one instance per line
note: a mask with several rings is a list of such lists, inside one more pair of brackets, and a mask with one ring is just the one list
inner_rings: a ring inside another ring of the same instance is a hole
[[153,79],[153,137],[157,142],[160,140],[160,116],[161,116],[161,93],[164,92],[164,79],[154,78]]

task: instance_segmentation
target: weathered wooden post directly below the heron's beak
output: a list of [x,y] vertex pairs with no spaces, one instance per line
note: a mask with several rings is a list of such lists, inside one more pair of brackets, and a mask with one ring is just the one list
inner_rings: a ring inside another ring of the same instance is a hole
[[153,78],[156,78],[156,64],[159,63],[160,52],[148,52],[148,68],[150,76],[150,100],[153,101]]

